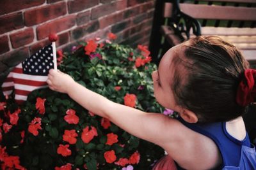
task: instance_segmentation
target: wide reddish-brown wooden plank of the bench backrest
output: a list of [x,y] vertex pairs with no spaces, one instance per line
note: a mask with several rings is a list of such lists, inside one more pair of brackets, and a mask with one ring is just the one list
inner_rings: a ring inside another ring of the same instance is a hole
[[256,20],[256,8],[214,6],[206,4],[180,4],[180,10],[187,15],[198,19]]

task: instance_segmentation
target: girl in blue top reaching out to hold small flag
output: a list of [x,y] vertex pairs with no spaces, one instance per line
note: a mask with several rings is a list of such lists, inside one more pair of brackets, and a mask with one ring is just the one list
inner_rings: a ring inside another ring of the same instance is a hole
[[168,156],[158,169],[173,167],[171,157],[184,169],[256,169],[255,148],[241,117],[255,101],[256,71],[248,69],[235,46],[215,36],[189,39],[164,54],[152,78],[157,101],[180,118],[113,103],[60,71],[51,70],[47,83],[134,136],[163,147]]

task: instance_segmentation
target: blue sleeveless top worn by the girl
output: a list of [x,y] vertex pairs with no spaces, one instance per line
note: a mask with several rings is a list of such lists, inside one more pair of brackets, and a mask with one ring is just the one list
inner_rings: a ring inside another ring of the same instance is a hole
[[226,122],[189,124],[182,118],[178,118],[178,120],[189,129],[211,138],[216,143],[223,160],[220,169],[256,170],[255,146],[250,143],[247,132],[246,138],[239,141],[228,134]]

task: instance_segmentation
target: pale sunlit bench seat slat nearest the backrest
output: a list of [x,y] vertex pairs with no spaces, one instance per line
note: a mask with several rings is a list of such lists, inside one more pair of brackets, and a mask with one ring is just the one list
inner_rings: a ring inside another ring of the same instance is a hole
[[[202,35],[217,36],[256,36],[256,28],[202,27]],[[191,32],[192,33],[192,32]]]

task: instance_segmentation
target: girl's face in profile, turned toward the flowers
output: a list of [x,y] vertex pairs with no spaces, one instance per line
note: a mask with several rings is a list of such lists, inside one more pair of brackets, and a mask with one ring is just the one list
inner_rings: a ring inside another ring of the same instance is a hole
[[179,112],[179,107],[175,103],[171,84],[173,78],[172,59],[182,52],[182,45],[173,46],[168,50],[161,62],[157,71],[152,73],[154,81],[154,95],[159,104],[164,108],[168,108]]

